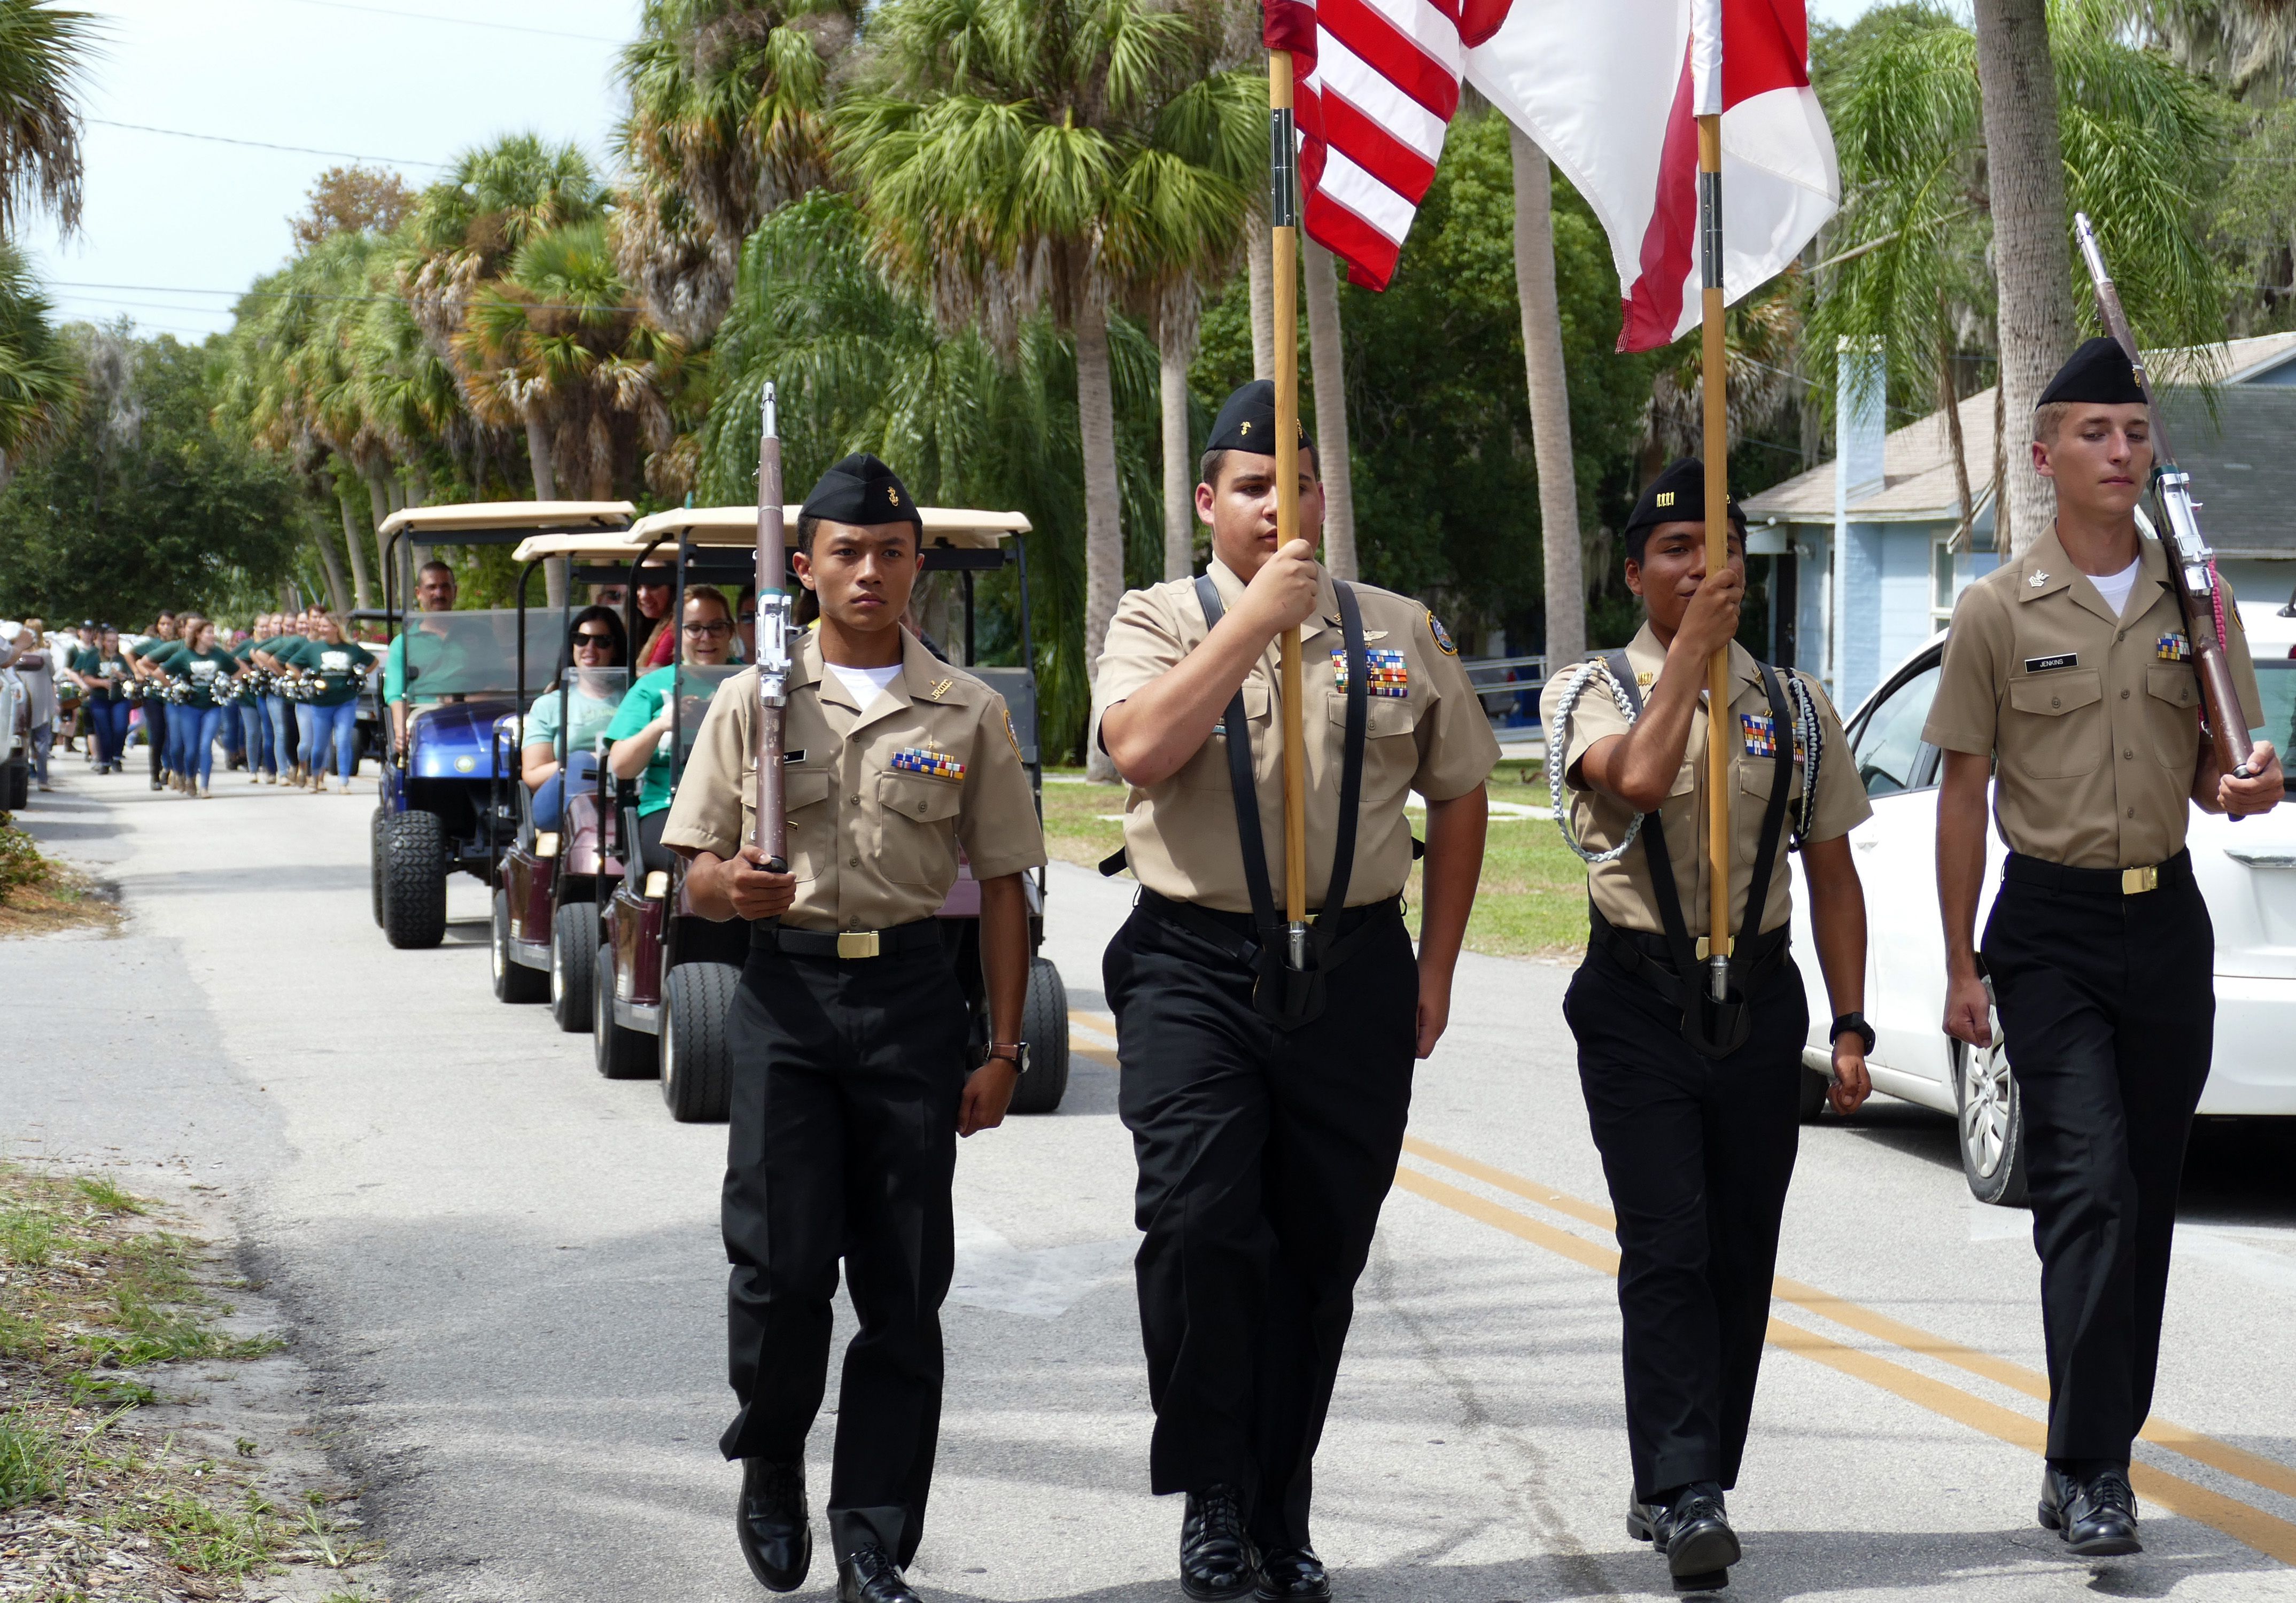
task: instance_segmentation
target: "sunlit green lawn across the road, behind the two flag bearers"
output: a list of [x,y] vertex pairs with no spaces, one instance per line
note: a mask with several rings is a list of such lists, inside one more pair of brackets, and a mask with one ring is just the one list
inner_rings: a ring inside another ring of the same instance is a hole
[[[1123,785],[1093,785],[1081,767],[1045,769],[1045,850],[1097,868],[1125,843]],[[1490,774],[1490,799],[1543,808],[1545,765],[1506,760]],[[1426,836],[1426,813],[1412,813]],[[1421,873],[1405,884],[1412,935],[1419,935]],[[1587,866],[1541,818],[1495,818],[1483,847],[1483,877],[1467,916],[1467,948],[1495,958],[1570,958],[1587,948]]]

